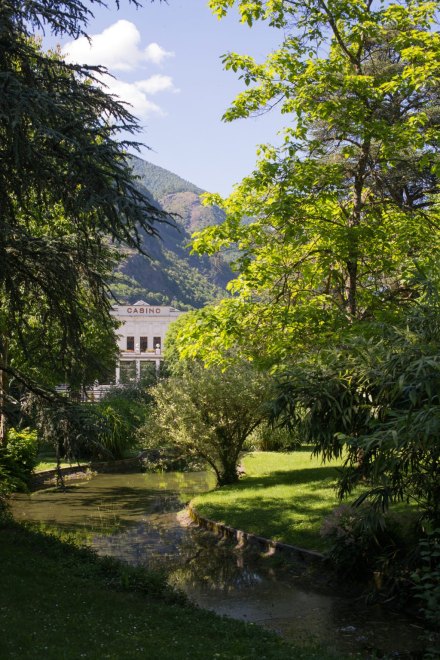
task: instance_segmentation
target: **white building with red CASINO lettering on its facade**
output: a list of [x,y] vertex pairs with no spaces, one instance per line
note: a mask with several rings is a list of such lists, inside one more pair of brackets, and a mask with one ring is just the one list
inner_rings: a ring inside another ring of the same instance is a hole
[[116,330],[119,365],[116,383],[126,383],[142,377],[142,371],[155,363],[159,368],[168,326],[182,312],[174,307],[149,305],[139,300],[134,305],[115,305],[112,315],[121,323]]

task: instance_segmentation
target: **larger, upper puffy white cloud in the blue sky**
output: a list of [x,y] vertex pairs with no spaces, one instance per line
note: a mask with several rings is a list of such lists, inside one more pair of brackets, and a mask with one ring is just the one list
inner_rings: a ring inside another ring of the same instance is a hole
[[146,62],[162,64],[174,53],[166,51],[153,42],[143,50],[140,47],[141,34],[134,23],[120,20],[100,34],[93,34],[90,41],[80,37],[70,41],[63,48],[68,62],[92,64],[107,67],[112,71],[133,71]]

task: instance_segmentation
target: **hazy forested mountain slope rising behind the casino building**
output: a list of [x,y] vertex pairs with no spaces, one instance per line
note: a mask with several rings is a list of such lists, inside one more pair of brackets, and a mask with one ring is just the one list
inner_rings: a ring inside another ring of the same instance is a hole
[[126,252],[111,283],[118,301],[128,304],[141,298],[153,305],[191,309],[223,297],[233,277],[228,264],[218,256],[191,255],[188,248],[191,234],[222,222],[223,211],[202,206],[205,191],[162,167],[134,156],[132,166],[139,189],[173,214],[175,226],[158,225],[160,239],[144,235],[148,257]]

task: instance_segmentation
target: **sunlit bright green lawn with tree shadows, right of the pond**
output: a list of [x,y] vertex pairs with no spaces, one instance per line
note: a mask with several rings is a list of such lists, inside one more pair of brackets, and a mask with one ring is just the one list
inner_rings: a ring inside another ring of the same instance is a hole
[[340,462],[322,465],[306,449],[252,452],[242,464],[245,476],[237,484],[194,498],[197,512],[265,538],[325,550],[319,529],[339,504],[335,483]]

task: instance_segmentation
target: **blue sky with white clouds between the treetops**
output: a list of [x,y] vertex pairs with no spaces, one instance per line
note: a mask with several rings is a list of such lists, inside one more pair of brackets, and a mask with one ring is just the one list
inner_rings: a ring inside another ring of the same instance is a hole
[[[244,89],[238,74],[224,71],[222,54],[249,54],[259,61],[281,41],[265,24],[240,24],[234,10],[219,21],[207,0],[168,0],[135,9],[94,10],[85,38],[61,41],[64,56],[107,66],[109,91],[132,104],[142,126],[141,157],[184,179],[227,196],[256,163],[258,144],[277,142],[277,113],[222,122],[223,112]],[[55,41],[46,40],[53,46]],[[285,123],[285,122],[284,122]]]

